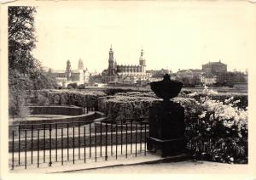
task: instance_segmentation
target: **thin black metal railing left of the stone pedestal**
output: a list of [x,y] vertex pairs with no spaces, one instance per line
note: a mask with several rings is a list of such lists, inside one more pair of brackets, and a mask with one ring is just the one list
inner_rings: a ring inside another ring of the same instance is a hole
[[[148,121],[125,119],[10,126],[9,166],[52,166],[147,155]],[[43,127],[43,128],[42,128]]]

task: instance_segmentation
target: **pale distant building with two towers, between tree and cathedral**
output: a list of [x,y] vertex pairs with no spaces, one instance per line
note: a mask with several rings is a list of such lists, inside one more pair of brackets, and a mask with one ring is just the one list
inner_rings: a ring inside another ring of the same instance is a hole
[[72,70],[71,63],[67,60],[66,70],[52,70],[49,69],[49,73],[55,76],[58,84],[62,87],[66,87],[67,84],[77,82],[79,84],[84,84],[89,82],[89,72],[87,69],[84,70],[84,64],[81,59],[79,59],[78,70]]

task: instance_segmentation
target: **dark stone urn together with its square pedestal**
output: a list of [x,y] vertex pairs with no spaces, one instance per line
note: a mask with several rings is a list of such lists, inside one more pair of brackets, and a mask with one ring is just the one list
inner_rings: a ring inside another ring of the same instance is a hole
[[183,155],[184,109],[180,104],[170,101],[180,93],[183,83],[172,81],[166,74],[162,81],[151,82],[150,87],[163,101],[158,101],[149,108],[147,149],[162,157]]

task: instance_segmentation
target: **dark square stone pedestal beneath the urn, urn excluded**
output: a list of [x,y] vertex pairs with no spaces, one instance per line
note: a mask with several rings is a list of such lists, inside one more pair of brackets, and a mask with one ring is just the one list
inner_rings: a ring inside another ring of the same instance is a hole
[[172,101],[154,104],[149,115],[147,149],[162,157],[185,152],[184,109]]

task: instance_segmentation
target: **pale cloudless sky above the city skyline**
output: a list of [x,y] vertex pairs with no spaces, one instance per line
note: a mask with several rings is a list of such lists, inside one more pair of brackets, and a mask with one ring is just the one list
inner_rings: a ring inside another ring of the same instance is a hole
[[219,59],[228,70],[246,70],[256,57],[255,4],[248,2],[86,1],[38,5],[37,48],[44,66],[90,71],[108,68],[112,45],[118,65],[147,70],[201,69]]

